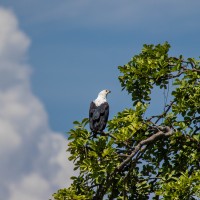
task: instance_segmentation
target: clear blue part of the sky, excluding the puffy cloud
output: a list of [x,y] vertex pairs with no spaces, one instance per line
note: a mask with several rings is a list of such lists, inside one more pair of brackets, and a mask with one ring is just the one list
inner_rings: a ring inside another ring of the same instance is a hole
[[65,132],[73,120],[87,116],[88,102],[103,88],[113,91],[111,115],[130,105],[120,91],[117,66],[144,43],[168,41],[175,55],[198,56],[199,4],[7,0],[3,5],[15,12],[31,39],[33,92],[44,103],[51,127]]

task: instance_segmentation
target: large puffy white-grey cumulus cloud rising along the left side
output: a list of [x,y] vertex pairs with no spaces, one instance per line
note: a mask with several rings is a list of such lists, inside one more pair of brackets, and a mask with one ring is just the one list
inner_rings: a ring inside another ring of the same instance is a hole
[[31,91],[29,45],[13,12],[0,8],[0,199],[48,199],[73,174],[65,138]]

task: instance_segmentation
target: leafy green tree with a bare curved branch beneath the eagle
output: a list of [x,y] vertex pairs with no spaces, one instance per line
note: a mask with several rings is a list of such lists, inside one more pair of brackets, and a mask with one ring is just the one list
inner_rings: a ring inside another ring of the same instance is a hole
[[[108,132],[93,137],[87,118],[74,122],[68,151],[79,175],[55,200],[200,198],[200,61],[169,49],[144,45],[118,67],[133,108],[111,119]],[[154,88],[170,101],[145,117]]]

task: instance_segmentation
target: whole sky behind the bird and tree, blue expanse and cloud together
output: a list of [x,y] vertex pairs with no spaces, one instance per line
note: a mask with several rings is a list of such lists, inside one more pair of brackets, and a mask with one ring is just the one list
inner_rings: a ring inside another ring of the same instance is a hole
[[[168,41],[172,55],[200,55],[198,0],[2,0],[0,7],[0,101],[5,108],[0,131],[4,144],[12,141],[13,146],[9,151],[8,145],[1,147],[3,199],[44,199],[69,182],[64,133],[88,116],[90,101],[102,89],[112,91],[110,118],[131,106],[117,66],[143,44]],[[159,112],[162,94],[155,92],[150,113]],[[19,160],[26,164],[12,167],[18,176],[4,184],[11,176],[7,169]],[[36,183],[43,188],[38,196]]]

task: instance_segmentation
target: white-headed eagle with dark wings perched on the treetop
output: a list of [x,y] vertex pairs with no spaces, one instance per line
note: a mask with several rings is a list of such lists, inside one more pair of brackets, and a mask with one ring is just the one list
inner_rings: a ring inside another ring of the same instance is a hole
[[107,95],[110,90],[102,90],[98,97],[90,103],[89,124],[93,133],[102,133],[106,127],[109,115],[109,104]]

